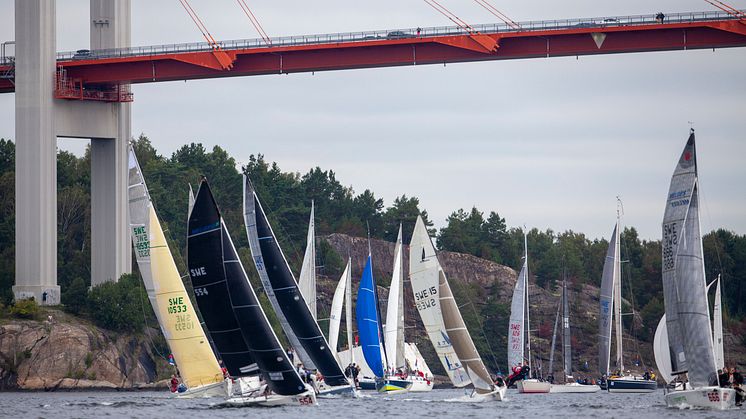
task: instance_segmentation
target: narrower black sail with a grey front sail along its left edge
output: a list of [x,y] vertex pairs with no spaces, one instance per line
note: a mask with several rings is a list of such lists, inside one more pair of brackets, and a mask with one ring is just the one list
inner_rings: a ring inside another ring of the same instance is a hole
[[329,349],[318,323],[314,320],[298,283],[290,271],[285,255],[275,239],[259,199],[248,178],[244,177],[244,220],[254,265],[264,289],[283,323],[291,342],[297,338],[302,348],[330,386],[349,385],[347,378]]

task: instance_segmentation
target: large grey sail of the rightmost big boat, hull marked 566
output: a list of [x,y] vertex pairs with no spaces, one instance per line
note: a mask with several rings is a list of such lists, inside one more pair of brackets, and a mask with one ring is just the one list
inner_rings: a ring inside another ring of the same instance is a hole
[[674,169],[666,200],[662,271],[672,372],[688,372],[693,387],[707,386],[717,379],[705,290],[698,188],[692,131]]

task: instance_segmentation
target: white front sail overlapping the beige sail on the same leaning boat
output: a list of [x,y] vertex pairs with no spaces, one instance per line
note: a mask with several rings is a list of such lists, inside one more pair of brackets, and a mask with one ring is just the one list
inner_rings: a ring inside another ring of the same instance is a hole
[[440,264],[435,256],[435,247],[430,241],[422,217],[417,217],[412,241],[409,244],[409,279],[415,304],[448,377],[454,386],[464,387],[471,383],[471,379],[445,330],[439,298],[439,273]]

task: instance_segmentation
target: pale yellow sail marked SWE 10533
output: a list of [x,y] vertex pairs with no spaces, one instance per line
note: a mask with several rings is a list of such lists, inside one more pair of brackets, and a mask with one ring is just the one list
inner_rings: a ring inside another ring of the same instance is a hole
[[149,213],[150,270],[154,286],[150,297],[181,378],[189,388],[222,381],[223,373],[186,293],[152,205]]

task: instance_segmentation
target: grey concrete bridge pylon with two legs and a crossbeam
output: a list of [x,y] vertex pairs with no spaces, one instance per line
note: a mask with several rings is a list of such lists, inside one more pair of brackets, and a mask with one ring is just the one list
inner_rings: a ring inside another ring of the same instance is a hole
[[[16,299],[60,303],[57,137],[91,140],[91,284],[131,269],[129,103],[54,98],[56,1],[16,0]],[[91,0],[91,49],[130,46],[130,0]]]

